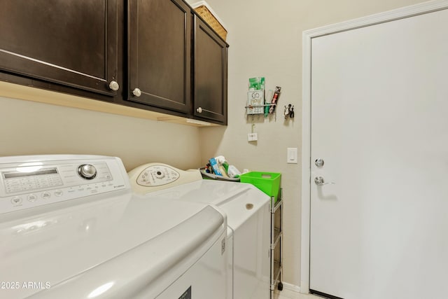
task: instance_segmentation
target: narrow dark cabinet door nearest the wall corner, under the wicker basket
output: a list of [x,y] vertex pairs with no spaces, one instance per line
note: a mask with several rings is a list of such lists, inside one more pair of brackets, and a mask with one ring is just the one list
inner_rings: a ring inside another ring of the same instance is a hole
[[195,118],[227,124],[227,57],[227,43],[195,16]]

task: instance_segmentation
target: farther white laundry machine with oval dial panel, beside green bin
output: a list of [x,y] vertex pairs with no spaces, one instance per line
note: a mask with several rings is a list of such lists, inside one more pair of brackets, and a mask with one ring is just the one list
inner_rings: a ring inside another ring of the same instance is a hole
[[[228,298],[270,297],[270,197],[248,183],[203,180],[162,163],[133,169],[130,183],[148,200],[213,204],[228,217]],[[230,250],[231,249],[231,250]]]

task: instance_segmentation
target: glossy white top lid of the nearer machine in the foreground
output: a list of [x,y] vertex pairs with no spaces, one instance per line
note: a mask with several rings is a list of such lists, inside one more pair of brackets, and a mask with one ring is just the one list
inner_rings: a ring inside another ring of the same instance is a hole
[[144,197],[40,211],[0,216],[0,281],[18,286],[0,289],[1,298],[130,298],[225,232],[225,218],[212,207]]

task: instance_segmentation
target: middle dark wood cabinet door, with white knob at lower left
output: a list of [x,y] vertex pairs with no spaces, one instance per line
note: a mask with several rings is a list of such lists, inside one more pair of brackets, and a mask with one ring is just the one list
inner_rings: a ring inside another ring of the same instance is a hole
[[191,11],[181,0],[130,0],[129,99],[190,113]]

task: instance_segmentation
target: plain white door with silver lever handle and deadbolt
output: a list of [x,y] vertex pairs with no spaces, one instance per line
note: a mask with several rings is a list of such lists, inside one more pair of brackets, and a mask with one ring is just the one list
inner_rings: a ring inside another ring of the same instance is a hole
[[314,38],[311,57],[310,289],[447,298],[448,10]]

